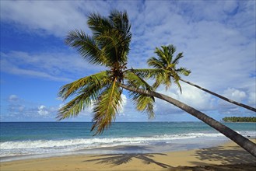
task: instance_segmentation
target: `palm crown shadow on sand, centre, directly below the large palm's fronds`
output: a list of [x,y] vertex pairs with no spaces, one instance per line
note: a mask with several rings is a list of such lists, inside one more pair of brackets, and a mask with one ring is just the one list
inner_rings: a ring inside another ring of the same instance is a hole
[[117,166],[117,165],[131,162],[132,159],[140,159],[145,164],[154,163],[157,166],[160,166],[162,168],[171,167],[165,163],[157,162],[156,160],[151,159],[154,157],[154,155],[166,155],[166,154],[162,154],[162,153],[146,153],[146,154],[132,153],[132,154],[93,155],[93,157],[97,157],[98,159],[89,159],[84,162],[97,162],[97,164],[109,163],[109,164],[113,164],[113,165]]

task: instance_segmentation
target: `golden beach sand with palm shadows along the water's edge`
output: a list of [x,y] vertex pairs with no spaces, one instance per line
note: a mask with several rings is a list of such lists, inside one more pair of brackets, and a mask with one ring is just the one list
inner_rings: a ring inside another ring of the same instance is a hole
[[[256,140],[252,140],[254,143]],[[233,142],[182,152],[64,155],[1,162],[0,170],[256,170],[256,158]]]

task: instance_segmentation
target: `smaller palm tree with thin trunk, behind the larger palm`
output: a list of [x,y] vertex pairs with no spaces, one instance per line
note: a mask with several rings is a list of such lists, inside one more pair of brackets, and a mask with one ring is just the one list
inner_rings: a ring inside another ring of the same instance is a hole
[[[156,82],[153,84],[153,87],[156,89],[158,86],[160,86],[161,83],[166,85],[166,89],[170,87],[171,80],[176,83],[176,85],[179,87],[181,91],[181,85],[179,81],[186,82],[191,86],[195,86],[198,89],[202,89],[205,92],[209,92],[213,96],[217,96],[220,99],[224,99],[227,102],[233,103],[237,106],[242,106],[246,108],[247,110],[252,110],[256,112],[256,109],[251,106],[247,106],[243,103],[238,103],[236,101],[233,101],[232,99],[228,99],[224,96],[221,96],[217,94],[216,92],[211,92],[208,89],[204,89],[201,86],[195,85],[194,83],[188,82],[184,79],[181,79],[180,75],[188,76],[191,71],[189,71],[187,68],[176,68],[176,65],[178,64],[179,60],[183,58],[183,54],[179,53],[177,54],[176,58],[174,58],[174,53],[176,51],[176,47],[174,47],[173,44],[170,44],[169,46],[161,46],[162,49],[156,47],[155,53],[157,54],[158,58],[152,57],[148,60],[148,65],[153,66],[154,68],[163,69],[165,70],[164,76],[158,75],[156,76]],[[174,58],[174,59],[173,59]]]

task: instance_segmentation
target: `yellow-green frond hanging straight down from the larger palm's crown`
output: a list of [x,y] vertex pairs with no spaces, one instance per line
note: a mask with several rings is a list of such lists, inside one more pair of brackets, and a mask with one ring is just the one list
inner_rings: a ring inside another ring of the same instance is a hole
[[121,104],[121,89],[117,86],[116,80],[114,80],[94,103],[94,123],[91,131],[96,128],[95,134],[101,134],[105,128],[110,127],[111,122],[115,119],[115,114],[121,108]]

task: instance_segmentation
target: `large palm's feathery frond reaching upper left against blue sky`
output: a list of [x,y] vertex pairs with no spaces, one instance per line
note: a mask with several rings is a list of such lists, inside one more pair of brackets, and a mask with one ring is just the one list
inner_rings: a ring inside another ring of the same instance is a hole
[[107,63],[104,54],[98,48],[96,40],[82,30],[73,30],[68,33],[65,43],[77,49],[82,58],[94,65],[105,65]]

